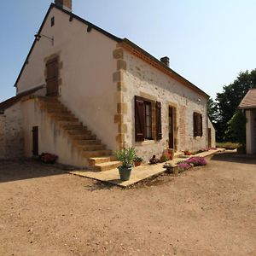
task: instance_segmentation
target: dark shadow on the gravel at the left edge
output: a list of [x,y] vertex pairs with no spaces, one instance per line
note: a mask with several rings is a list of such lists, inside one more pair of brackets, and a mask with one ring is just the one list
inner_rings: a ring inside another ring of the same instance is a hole
[[54,165],[45,165],[33,160],[0,160],[0,183],[36,177],[48,177],[68,172]]

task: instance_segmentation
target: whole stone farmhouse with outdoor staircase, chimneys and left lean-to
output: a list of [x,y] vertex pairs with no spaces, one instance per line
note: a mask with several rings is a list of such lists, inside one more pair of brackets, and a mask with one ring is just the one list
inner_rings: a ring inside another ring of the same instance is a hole
[[15,82],[0,104],[0,158],[57,154],[62,164],[114,168],[113,150],[148,161],[166,148],[215,147],[209,96],[160,60],[51,3]]

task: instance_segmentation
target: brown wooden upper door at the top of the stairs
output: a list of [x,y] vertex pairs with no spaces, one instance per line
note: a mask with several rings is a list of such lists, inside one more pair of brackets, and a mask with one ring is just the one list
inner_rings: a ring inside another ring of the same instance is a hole
[[47,96],[57,96],[59,93],[58,58],[47,61],[46,73]]

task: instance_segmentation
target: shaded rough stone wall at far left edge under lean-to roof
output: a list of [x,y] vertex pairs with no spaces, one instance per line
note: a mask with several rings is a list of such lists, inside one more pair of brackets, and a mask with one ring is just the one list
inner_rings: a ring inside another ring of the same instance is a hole
[[24,156],[23,121],[20,102],[0,115],[0,159]]

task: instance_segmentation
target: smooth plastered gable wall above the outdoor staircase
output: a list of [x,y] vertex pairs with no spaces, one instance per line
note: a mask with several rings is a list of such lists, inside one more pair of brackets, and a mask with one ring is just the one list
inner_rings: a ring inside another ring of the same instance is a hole
[[[55,26],[50,19],[55,16]],[[41,32],[54,37],[54,46],[41,38],[35,45],[29,63],[17,84],[18,92],[44,84],[44,58],[59,53],[63,63],[60,86],[61,102],[87,125],[109,149],[116,149],[117,125],[114,103],[113,73],[116,62],[113,49],[116,42],[96,30],[87,32],[79,20],[69,21],[69,15],[52,9]],[[106,125],[108,124],[108,125]]]

